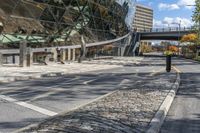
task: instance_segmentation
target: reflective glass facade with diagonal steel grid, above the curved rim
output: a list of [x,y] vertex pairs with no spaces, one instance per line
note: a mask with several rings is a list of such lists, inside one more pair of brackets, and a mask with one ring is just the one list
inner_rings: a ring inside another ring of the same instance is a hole
[[0,9],[6,38],[75,45],[81,36],[92,43],[129,33],[135,0],[1,0]]

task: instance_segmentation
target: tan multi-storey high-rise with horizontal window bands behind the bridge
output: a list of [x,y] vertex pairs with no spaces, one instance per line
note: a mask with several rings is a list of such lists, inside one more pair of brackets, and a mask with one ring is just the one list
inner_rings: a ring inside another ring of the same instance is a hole
[[150,7],[136,4],[133,29],[137,31],[150,30],[153,27],[153,9]]

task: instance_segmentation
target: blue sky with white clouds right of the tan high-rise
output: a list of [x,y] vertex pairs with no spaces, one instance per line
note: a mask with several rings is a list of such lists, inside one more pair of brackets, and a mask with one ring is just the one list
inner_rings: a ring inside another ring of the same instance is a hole
[[154,27],[189,27],[192,23],[195,0],[137,0],[154,10]]

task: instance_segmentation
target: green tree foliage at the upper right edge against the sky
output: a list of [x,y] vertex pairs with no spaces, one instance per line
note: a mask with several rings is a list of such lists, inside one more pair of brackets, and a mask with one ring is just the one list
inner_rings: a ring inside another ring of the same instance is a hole
[[200,45],[200,0],[195,0],[195,11],[193,14],[193,21],[196,23],[197,26],[197,44]]

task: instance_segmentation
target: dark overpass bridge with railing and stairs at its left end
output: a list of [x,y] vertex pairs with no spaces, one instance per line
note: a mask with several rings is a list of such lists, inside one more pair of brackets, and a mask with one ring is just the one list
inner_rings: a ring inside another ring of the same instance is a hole
[[195,33],[192,27],[168,27],[168,28],[153,28],[144,29],[143,31],[135,31],[132,33],[132,39],[128,46],[125,48],[124,56],[132,56],[138,53],[138,47],[142,40],[169,40],[180,41],[180,39],[187,34]]

